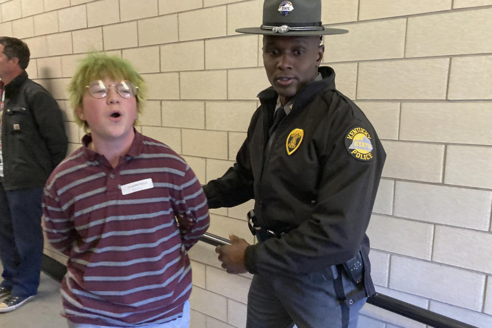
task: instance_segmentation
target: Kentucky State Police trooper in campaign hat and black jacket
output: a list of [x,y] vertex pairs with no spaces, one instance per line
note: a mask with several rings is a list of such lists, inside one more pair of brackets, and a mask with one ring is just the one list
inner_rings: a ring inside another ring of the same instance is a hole
[[263,35],[271,87],[258,94],[236,163],[204,186],[210,208],[255,199],[248,214],[258,243],[231,235],[217,247],[222,268],[254,274],[248,328],[357,326],[375,294],[365,231],[386,154],[362,111],[319,67],[321,0],[265,0]]

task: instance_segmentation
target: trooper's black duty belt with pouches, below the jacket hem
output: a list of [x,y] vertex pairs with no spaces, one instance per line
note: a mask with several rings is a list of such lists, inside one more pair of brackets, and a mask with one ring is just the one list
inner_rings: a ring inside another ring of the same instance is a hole
[[[255,211],[251,210],[248,212],[248,227],[250,228],[253,236],[259,237],[260,241],[265,241],[269,238],[280,238],[285,231],[275,232],[271,229],[267,229],[264,227],[257,226],[255,224]],[[364,273],[364,265],[362,261],[361,252],[357,252],[357,254],[348,261],[340,264],[347,273],[348,277],[352,282],[358,284],[362,281],[363,273]]]

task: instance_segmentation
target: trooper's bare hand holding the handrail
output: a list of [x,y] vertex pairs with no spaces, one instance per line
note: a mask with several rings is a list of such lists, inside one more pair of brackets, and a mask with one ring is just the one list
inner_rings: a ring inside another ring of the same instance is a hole
[[227,273],[244,273],[244,251],[250,245],[243,238],[236,235],[229,235],[232,245],[217,246],[215,253],[218,253],[218,259],[222,262],[222,268],[227,270]]

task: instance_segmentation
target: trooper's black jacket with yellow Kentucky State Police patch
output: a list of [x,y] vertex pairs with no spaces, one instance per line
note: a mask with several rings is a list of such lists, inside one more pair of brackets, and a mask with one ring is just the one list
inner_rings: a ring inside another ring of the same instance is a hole
[[310,274],[362,250],[365,287],[375,293],[369,223],[386,154],[362,111],[335,89],[335,72],[306,84],[267,149],[277,93],[263,90],[236,162],[204,186],[210,208],[255,199],[256,223],[281,238],[248,247],[251,273]]

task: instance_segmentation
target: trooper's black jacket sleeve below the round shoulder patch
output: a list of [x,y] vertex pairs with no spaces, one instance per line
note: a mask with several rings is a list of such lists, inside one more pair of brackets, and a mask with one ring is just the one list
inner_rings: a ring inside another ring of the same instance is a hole
[[386,155],[374,134],[375,157],[358,160],[346,149],[345,131],[337,134],[338,139],[325,150],[311,217],[281,238],[248,247],[245,264],[250,273],[307,274],[345,262],[359,250]]

